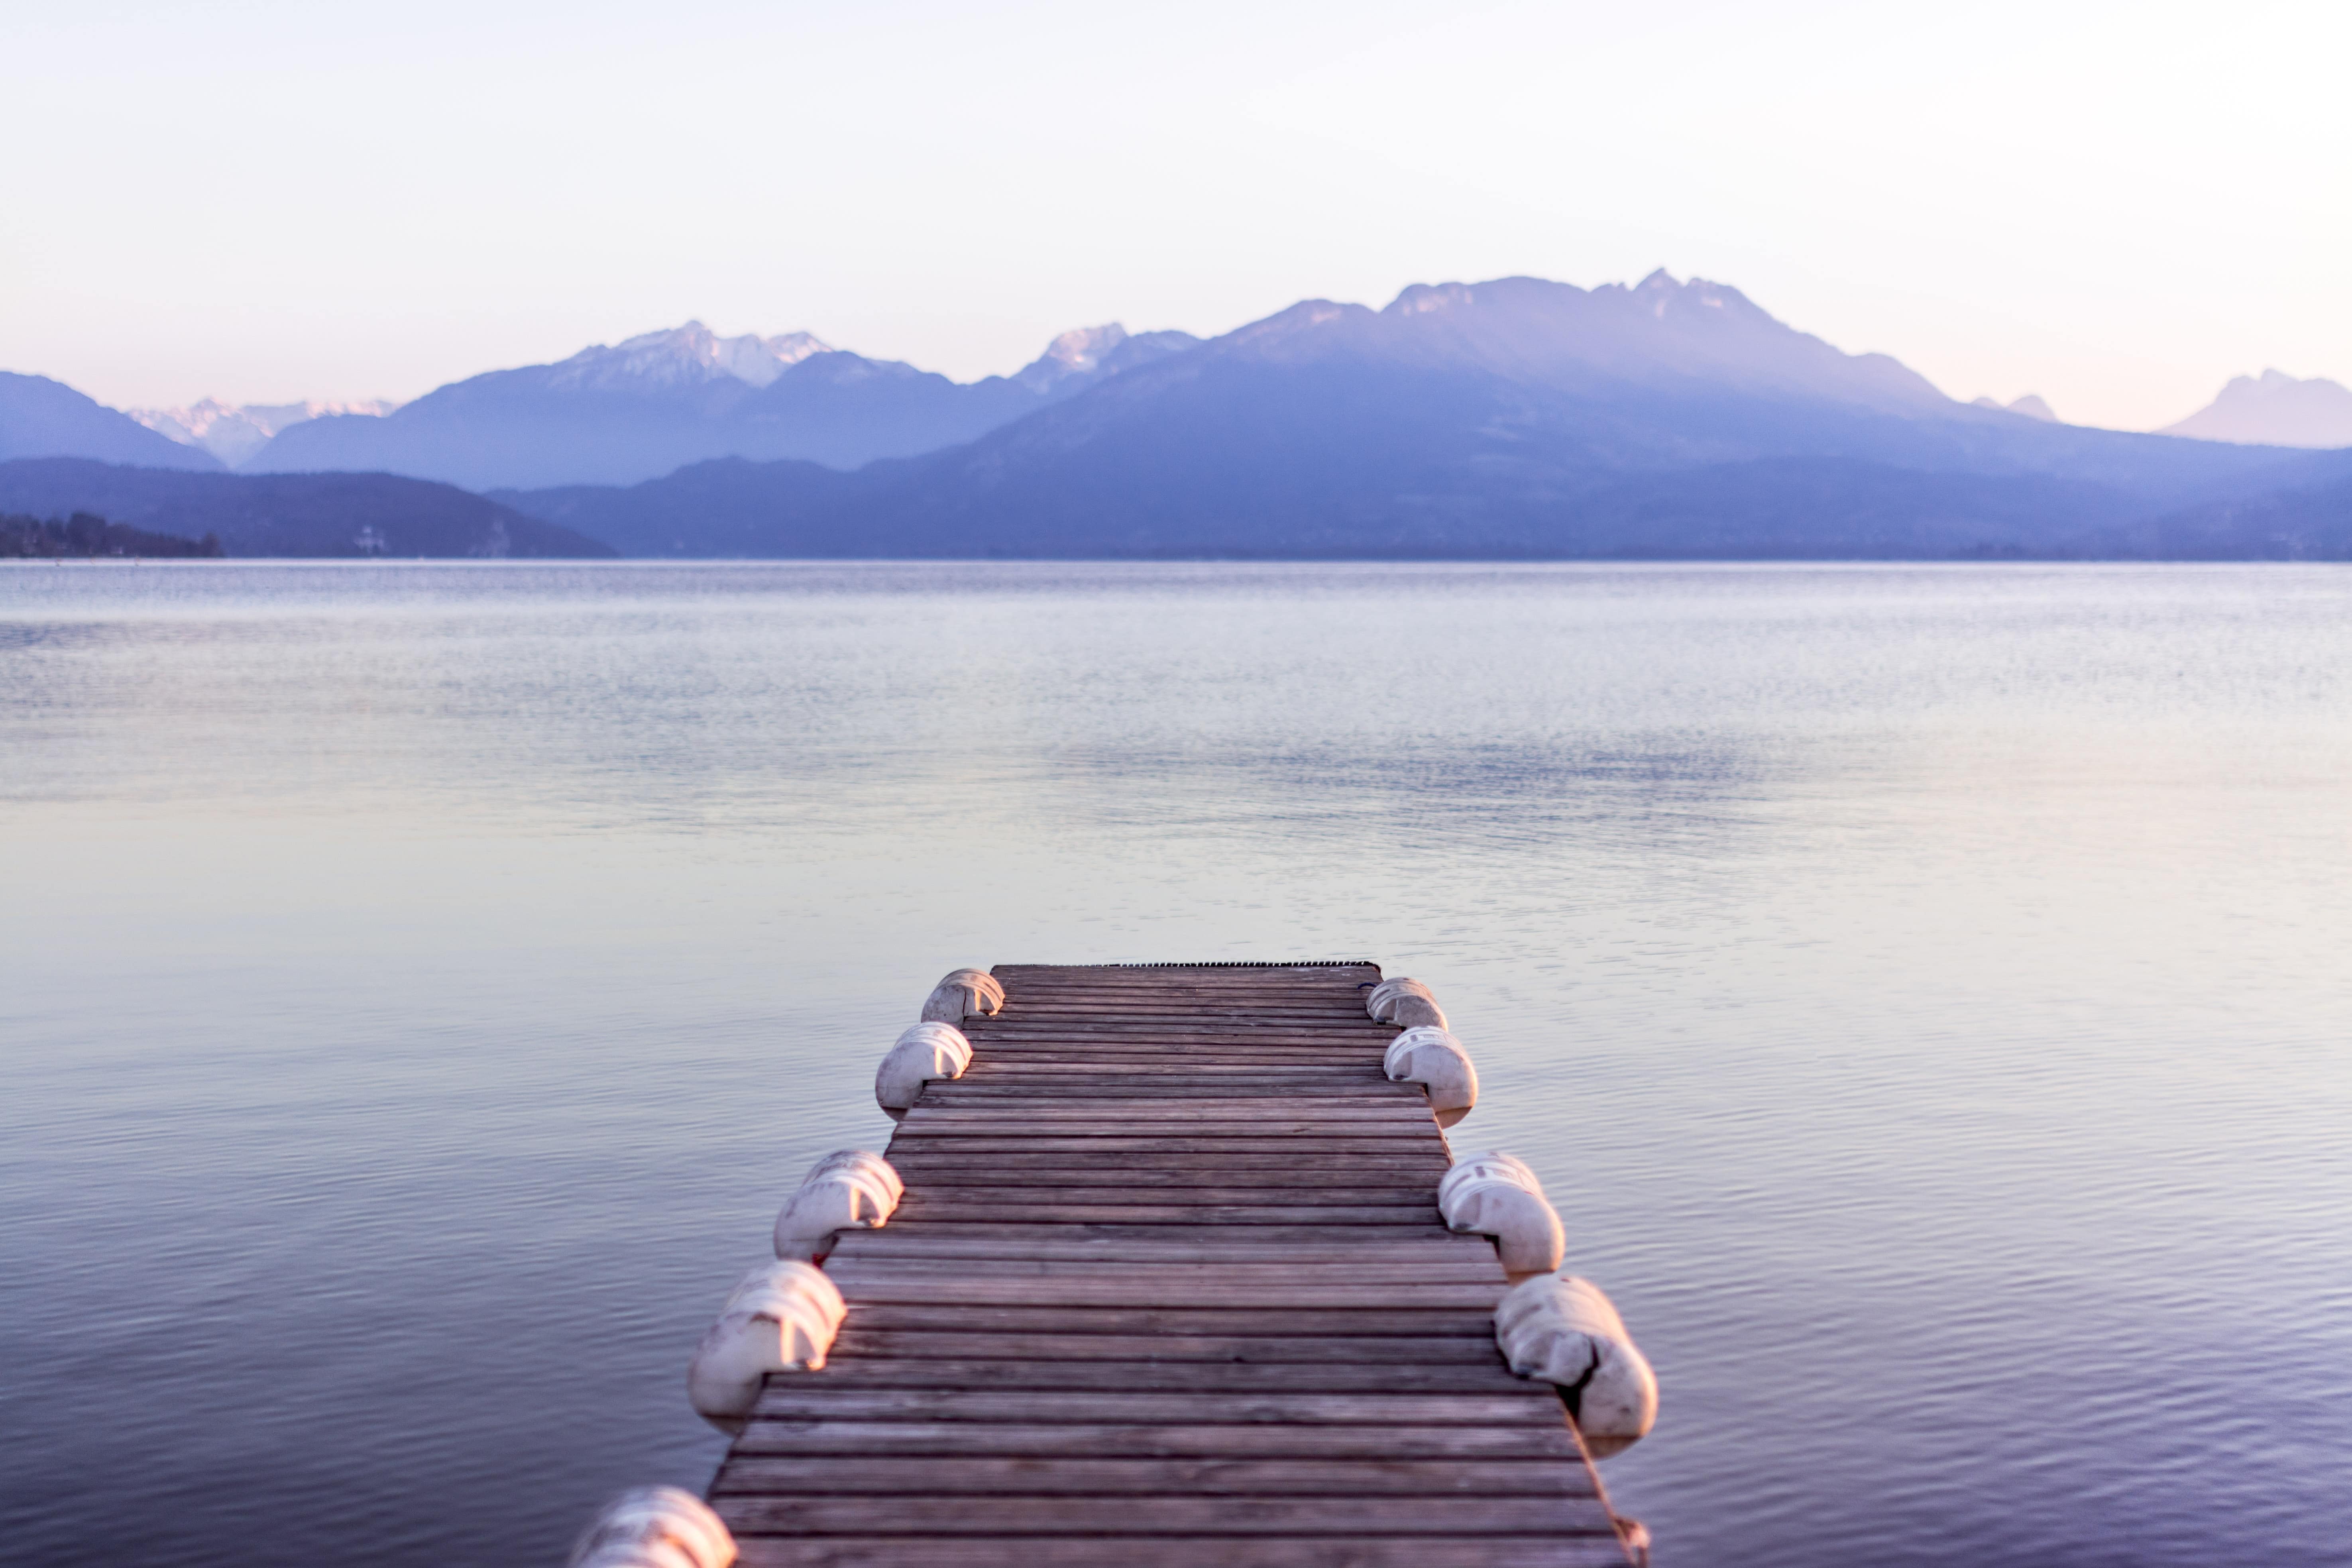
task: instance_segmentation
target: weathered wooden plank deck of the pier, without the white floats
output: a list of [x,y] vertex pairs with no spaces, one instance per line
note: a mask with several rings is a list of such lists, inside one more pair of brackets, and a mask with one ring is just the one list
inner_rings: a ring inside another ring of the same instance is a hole
[[1002,966],[844,1232],[849,1319],[710,1488],[767,1566],[1623,1566],[1494,1246],[1390,1084],[1381,971]]

